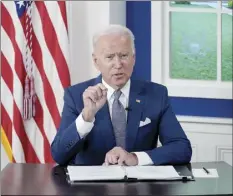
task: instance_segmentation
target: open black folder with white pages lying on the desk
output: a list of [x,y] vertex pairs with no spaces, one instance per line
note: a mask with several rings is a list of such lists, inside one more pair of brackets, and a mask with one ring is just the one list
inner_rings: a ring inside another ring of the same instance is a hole
[[192,172],[182,166],[67,166],[69,183],[80,181],[193,180]]

